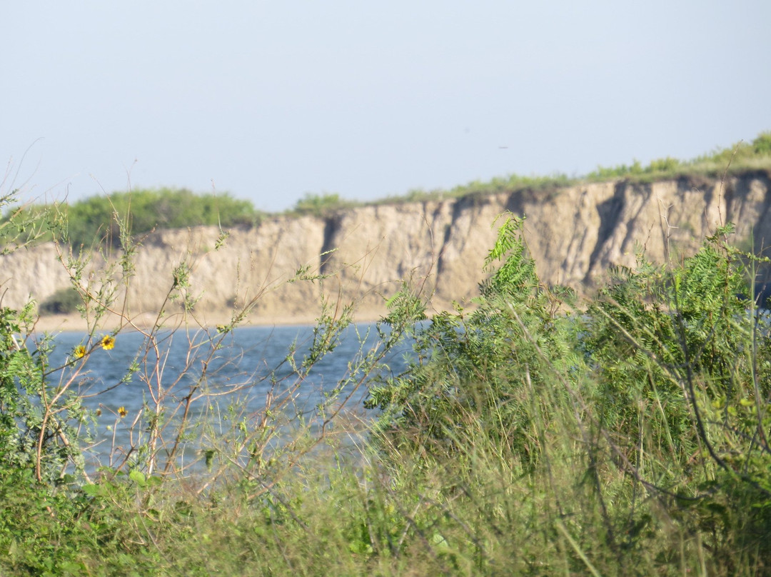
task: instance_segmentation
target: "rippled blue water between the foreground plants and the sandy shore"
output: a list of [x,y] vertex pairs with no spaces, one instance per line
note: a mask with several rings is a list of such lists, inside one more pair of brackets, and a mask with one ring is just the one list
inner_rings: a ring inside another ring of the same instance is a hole
[[[87,338],[79,332],[57,335],[54,339],[56,348],[49,357],[51,365],[65,363],[76,346],[90,348]],[[167,395],[164,406],[169,414],[184,400],[190,386],[205,383],[207,390],[215,395],[210,397],[214,403],[203,397],[192,403],[190,417],[193,420],[203,413],[210,415],[213,404],[217,410],[225,411],[229,405],[237,403],[242,414],[258,414],[264,410],[268,395],[280,399],[282,394],[291,394],[291,400],[285,405],[288,412],[302,413],[312,421],[316,407],[351,374],[350,363],[379,342],[374,326],[349,327],[332,353],[319,359],[307,376],[298,377],[286,359],[294,351],[295,362],[302,363],[312,339],[311,326],[243,327],[224,336],[214,329],[177,330],[160,333],[156,349],[148,347],[142,333],[125,332],[116,337],[112,350],[96,346],[82,366],[76,363],[76,366],[60,369],[50,376],[50,381],[66,383],[72,380],[71,389],[83,396],[86,407],[99,410],[95,431],[97,445],[91,458],[108,464],[111,456],[115,457],[113,447],[130,446],[130,423],[143,410],[143,419],[146,418],[148,408],[153,407],[153,393],[159,390],[159,383],[160,390]],[[405,351],[406,346],[392,351],[385,362],[394,370],[400,369]],[[131,366],[137,368],[133,374],[130,373]],[[205,379],[202,380],[202,376]],[[345,413],[355,413],[357,417],[371,418],[371,412],[363,410],[362,406],[366,386],[355,389],[349,384],[343,396],[349,391],[351,398],[345,404],[343,417]],[[121,407],[126,410],[126,417],[120,417]],[[146,421],[140,420],[140,425],[143,422]]]

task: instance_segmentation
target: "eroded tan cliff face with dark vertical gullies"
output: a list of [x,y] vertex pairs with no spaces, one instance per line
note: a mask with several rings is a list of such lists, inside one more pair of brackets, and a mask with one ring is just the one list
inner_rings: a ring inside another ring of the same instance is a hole
[[[322,293],[332,302],[357,299],[362,316],[372,317],[407,278],[433,295],[435,309],[445,309],[476,295],[496,235],[493,221],[504,211],[526,215],[525,236],[543,282],[586,289],[610,265],[635,265],[640,248],[658,262],[692,253],[726,221],[736,224],[738,241],[752,238],[763,248],[771,242],[769,184],[769,174],[759,172],[722,186],[685,178],[621,181],[368,206],[329,218],[272,218],[231,230],[221,246],[216,228],[160,231],[142,241],[130,275],[115,268],[115,307],[148,317],[173,297],[171,310],[178,310],[176,270],[189,278],[202,322],[220,322],[234,305],[250,302],[252,322],[309,321],[320,311]],[[91,290],[98,289],[120,255],[105,256],[93,256],[82,285],[90,278]],[[2,305],[18,308],[29,296],[42,302],[69,283],[51,244],[0,258]],[[298,271],[323,278],[288,283]]]

